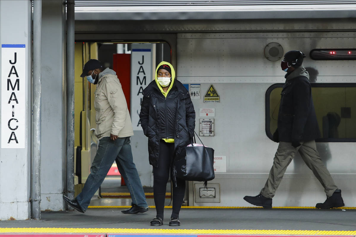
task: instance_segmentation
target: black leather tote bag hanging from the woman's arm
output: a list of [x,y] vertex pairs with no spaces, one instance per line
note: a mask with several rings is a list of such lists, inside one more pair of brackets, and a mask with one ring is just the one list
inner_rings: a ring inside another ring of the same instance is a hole
[[[197,133],[195,134],[198,136]],[[175,177],[187,181],[204,181],[204,187],[206,187],[207,181],[215,178],[214,149],[205,147],[201,140],[200,142],[203,146],[193,146],[192,143],[192,146],[183,147],[176,154],[173,164],[176,185]]]

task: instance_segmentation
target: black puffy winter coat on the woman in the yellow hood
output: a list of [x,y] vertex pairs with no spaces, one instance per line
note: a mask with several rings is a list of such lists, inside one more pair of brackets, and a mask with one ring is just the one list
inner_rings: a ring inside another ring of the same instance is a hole
[[148,84],[142,95],[140,122],[148,137],[150,164],[157,167],[160,139],[173,138],[175,152],[190,143],[195,129],[194,106],[188,90],[178,80],[174,80],[167,98],[155,80]]

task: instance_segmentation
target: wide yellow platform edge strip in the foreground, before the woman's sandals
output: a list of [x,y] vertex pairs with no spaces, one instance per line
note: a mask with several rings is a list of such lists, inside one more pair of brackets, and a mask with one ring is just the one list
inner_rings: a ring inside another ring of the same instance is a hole
[[139,234],[230,234],[230,235],[356,235],[356,231],[320,230],[172,230],[125,228],[0,228],[0,233],[139,233]]

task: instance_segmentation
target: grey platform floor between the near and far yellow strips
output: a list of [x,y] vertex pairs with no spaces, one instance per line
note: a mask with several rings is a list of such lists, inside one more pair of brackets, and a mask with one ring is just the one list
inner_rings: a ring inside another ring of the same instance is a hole
[[165,208],[164,224],[160,227],[150,226],[150,221],[156,215],[155,208],[143,214],[122,214],[121,210],[124,209],[89,208],[84,214],[78,211],[42,212],[41,220],[0,221],[0,227],[356,231],[355,209],[183,207],[179,215],[181,226],[177,227],[168,226],[171,208]]

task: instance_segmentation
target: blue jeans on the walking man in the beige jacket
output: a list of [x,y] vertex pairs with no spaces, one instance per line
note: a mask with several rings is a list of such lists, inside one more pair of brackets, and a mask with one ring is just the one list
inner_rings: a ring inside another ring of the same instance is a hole
[[90,199],[103,183],[114,161],[131,194],[131,205],[136,204],[148,208],[145,192],[143,192],[140,177],[133,163],[130,137],[118,138],[115,141],[105,137],[99,140],[98,151],[91,164],[90,174],[82,192],[77,196],[77,201],[83,211],[87,210]]

